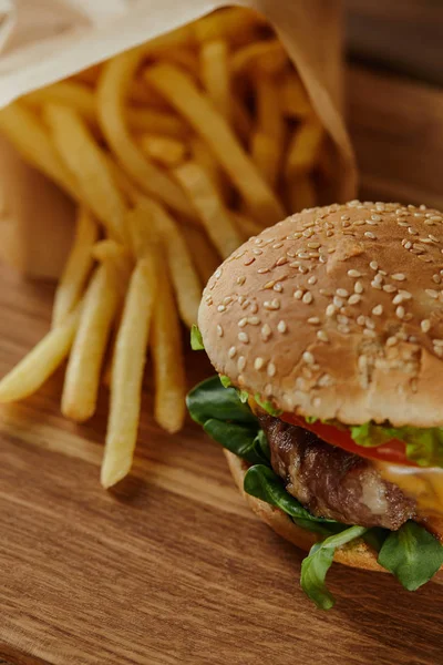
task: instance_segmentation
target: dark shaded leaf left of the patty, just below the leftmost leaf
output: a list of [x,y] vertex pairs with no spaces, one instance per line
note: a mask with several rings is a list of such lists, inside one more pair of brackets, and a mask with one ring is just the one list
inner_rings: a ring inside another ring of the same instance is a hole
[[212,439],[251,464],[269,463],[260,448],[257,428],[210,419],[203,429]]

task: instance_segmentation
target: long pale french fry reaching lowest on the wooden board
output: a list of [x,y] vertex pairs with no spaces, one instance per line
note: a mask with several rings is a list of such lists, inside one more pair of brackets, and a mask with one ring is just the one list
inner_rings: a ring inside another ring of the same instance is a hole
[[153,260],[148,257],[140,259],[131,277],[115,345],[110,418],[101,471],[104,488],[122,480],[132,467],[156,284]]

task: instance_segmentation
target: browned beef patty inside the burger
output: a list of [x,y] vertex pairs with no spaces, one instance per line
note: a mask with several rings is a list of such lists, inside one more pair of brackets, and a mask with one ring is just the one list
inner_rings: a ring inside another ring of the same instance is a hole
[[312,432],[259,415],[271,464],[313,515],[395,531],[415,514],[415,501],[382,480],[370,460],[326,443]]

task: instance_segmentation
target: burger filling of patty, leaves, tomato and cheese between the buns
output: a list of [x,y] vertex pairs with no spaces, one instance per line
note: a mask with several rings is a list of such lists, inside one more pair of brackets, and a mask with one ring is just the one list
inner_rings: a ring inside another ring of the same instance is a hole
[[187,398],[189,413],[248,466],[245,492],[317,534],[301,586],[321,608],[337,548],[363,540],[378,563],[414,591],[443,564],[443,429],[349,428],[279,413],[259,396],[213,377]]

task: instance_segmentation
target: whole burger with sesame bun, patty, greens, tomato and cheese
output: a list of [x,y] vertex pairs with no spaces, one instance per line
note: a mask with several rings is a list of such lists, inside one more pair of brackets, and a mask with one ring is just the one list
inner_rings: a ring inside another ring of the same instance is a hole
[[319,607],[332,561],[411,591],[442,579],[443,214],[352,201],[288,217],[213,275],[192,341],[217,376],[189,412],[251,509],[309,550]]

